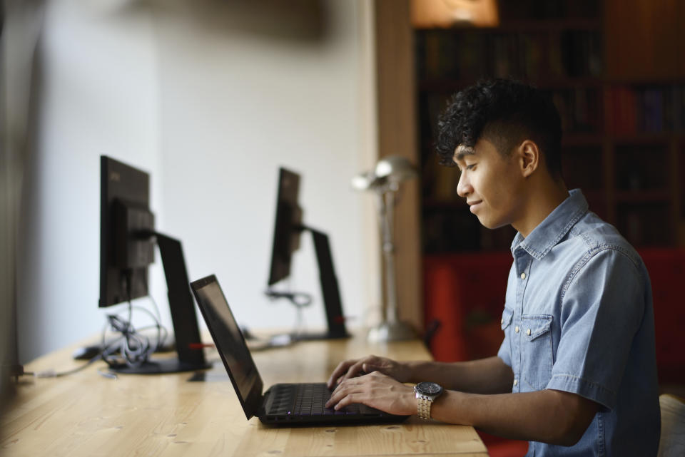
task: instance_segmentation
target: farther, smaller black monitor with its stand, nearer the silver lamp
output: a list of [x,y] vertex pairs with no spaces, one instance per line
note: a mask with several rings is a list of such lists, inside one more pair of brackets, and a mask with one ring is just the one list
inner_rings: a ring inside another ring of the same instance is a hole
[[321,292],[325,304],[328,330],[323,333],[295,335],[300,339],[329,339],[348,337],[345,329],[345,317],[342,314],[340,289],[335,277],[333,256],[330,252],[328,235],[303,224],[303,210],[298,202],[300,175],[294,171],[280,168],[278,170],[278,194],[276,196],[275,225],[271,247],[267,294],[270,297],[289,297],[290,292],[278,292],[274,284],[290,276],[293,253],[300,247],[300,234],[308,231],[312,234],[316,259],[319,266]]

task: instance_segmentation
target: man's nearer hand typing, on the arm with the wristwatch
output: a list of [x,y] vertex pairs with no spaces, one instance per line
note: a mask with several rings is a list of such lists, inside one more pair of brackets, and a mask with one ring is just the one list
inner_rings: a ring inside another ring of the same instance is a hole
[[362,403],[401,416],[416,413],[414,390],[379,371],[341,381],[331,394],[326,408],[340,409],[353,403]]

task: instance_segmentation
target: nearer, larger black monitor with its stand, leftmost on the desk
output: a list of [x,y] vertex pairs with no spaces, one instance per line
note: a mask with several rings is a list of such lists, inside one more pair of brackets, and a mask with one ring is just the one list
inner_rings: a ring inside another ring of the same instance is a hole
[[100,307],[148,295],[148,267],[159,247],[168,287],[177,358],[110,364],[120,373],[156,374],[208,368],[181,242],[155,230],[150,175],[101,156]]

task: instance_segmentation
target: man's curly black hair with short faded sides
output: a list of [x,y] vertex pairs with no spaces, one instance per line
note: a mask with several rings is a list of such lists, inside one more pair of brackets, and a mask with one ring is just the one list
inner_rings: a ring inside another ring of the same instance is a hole
[[473,147],[480,138],[502,155],[528,139],[544,154],[550,175],[561,178],[561,118],[552,99],[534,86],[513,79],[480,81],[452,97],[437,126],[441,165],[455,166],[455,148]]

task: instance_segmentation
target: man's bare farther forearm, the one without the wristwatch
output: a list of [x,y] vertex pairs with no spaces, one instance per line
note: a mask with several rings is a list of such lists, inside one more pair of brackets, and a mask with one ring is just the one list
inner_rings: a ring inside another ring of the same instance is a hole
[[473,394],[504,394],[512,391],[514,374],[502,359],[489,357],[474,361],[407,362],[410,382],[433,381],[445,389]]

